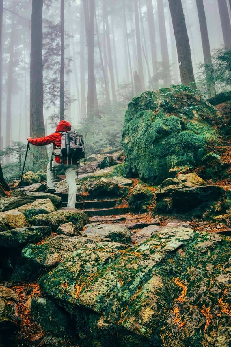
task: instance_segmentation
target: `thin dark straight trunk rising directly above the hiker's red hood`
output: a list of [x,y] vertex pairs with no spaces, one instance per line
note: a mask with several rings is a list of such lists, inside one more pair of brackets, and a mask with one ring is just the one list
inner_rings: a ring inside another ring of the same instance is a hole
[[60,106],[59,119],[64,120],[64,70],[65,70],[65,46],[64,46],[64,0],[60,3],[60,39],[61,39],[61,63],[60,63]]

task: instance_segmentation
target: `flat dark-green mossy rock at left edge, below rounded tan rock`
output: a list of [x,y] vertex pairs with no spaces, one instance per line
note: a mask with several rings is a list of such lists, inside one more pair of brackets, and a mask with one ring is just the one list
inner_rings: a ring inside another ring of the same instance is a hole
[[0,232],[0,247],[23,248],[31,242],[38,242],[50,236],[50,227],[24,227]]

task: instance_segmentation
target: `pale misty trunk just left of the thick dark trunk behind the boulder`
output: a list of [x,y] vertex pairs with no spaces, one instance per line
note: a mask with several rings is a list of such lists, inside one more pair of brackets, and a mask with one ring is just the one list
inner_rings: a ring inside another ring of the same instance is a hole
[[157,12],[158,12],[158,19],[159,19],[162,67],[164,71],[164,85],[169,86],[172,82],[172,79],[171,79],[171,71],[170,71],[170,64],[169,64],[168,43],[167,43],[167,33],[166,33],[166,26],[165,26],[165,13],[164,13],[163,0],[157,0]]

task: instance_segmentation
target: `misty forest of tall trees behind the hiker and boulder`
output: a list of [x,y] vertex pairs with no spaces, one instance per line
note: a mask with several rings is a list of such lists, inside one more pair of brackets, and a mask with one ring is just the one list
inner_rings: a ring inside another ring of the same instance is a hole
[[[59,120],[84,135],[90,155],[120,147],[127,105],[145,90],[229,91],[230,20],[231,0],[0,0],[5,177],[19,177],[27,137]],[[26,169],[47,159],[33,148]]]

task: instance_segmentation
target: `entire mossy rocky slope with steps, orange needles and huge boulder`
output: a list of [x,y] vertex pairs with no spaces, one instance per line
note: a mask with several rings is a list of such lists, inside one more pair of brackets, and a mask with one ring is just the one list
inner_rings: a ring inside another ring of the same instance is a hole
[[230,347],[229,134],[174,93],[133,99],[130,161],[81,174],[75,209],[40,173],[0,198],[0,346]]

